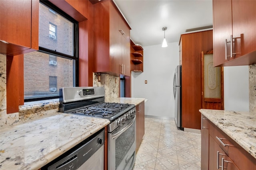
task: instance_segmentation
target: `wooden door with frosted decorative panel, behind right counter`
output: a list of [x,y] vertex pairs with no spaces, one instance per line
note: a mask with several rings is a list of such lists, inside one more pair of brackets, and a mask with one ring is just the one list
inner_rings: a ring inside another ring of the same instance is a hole
[[202,51],[202,108],[223,110],[223,67],[213,61],[213,51]]

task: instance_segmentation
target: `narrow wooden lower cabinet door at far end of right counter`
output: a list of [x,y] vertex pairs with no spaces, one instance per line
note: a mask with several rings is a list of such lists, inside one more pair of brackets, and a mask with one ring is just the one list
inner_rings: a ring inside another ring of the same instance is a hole
[[201,115],[201,169],[209,168],[209,120]]

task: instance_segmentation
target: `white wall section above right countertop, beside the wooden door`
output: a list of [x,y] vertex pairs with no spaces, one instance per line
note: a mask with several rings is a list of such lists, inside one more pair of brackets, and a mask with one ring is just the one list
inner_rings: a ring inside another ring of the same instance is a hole
[[224,67],[224,109],[249,111],[249,67]]

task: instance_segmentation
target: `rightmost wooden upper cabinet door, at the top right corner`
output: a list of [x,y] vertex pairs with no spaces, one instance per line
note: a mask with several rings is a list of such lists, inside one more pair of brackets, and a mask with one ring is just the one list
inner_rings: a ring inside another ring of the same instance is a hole
[[235,59],[256,50],[255,9],[255,0],[232,0],[233,52],[238,53],[233,55]]

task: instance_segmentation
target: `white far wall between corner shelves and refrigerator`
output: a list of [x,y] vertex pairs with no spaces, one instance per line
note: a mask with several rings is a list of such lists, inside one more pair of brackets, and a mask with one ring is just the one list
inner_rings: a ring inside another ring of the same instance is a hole
[[[179,64],[179,45],[143,47],[144,72],[132,72],[132,98],[146,98],[145,115],[174,119],[173,77]],[[148,84],[145,84],[145,80]]]

